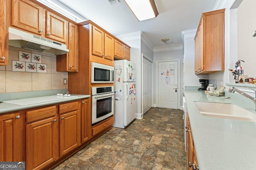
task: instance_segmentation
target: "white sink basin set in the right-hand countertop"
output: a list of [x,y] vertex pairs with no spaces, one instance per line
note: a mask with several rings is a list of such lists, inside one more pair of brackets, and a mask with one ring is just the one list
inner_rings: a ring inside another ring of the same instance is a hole
[[227,103],[194,102],[204,116],[256,122],[256,114],[240,106]]

